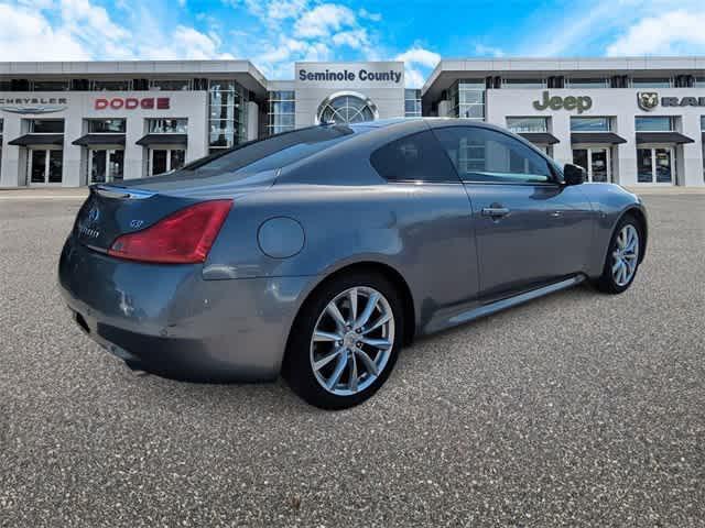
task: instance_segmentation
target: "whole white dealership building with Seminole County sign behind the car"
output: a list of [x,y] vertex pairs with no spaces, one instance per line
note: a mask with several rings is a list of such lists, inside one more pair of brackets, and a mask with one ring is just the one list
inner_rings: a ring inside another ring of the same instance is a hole
[[[327,122],[435,116],[523,135],[594,182],[705,185],[705,57],[0,63],[0,187],[149,177],[246,141]],[[468,150],[481,157],[481,148]]]

